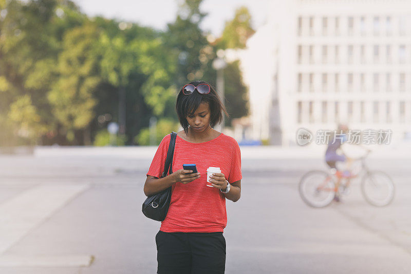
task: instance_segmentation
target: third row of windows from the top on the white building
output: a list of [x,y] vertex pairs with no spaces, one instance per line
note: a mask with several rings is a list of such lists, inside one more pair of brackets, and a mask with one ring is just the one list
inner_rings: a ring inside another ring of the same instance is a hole
[[[343,77],[344,78],[343,78]],[[316,89],[314,83],[317,82],[316,78],[321,77],[321,89],[322,92],[327,92],[327,90],[334,89],[335,92],[341,90],[342,78],[346,84],[345,88],[348,92],[352,92],[354,89],[361,92],[365,92],[367,89],[367,82],[371,82],[370,77],[372,77],[372,90],[374,92],[379,92],[380,90],[385,90],[386,92],[392,92],[394,88],[400,92],[405,92],[406,89],[411,90],[408,87],[408,83],[411,82],[411,75],[405,74],[405,72],[400,72],[399,74],[354,74],[352,72],[348,74],[297,74],[297,92],[314,92]],[[394,78],[394,79],[393,79]]]

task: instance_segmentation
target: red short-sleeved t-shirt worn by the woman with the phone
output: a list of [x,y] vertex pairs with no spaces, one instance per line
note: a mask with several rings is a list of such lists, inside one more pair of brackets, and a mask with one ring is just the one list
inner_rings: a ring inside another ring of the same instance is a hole
[[[154,155],[147,175],[161,177],[170,144],[166,135]],[[161,222],[163,232],[222,232],[227,226],[226,197],[217,188],[206,186],[207,169],[218,167],[232,184],[241,177],[241,153],[237,141],[221,133],[213,140],[191,143],[176,137],[173,172],[183,164],[195,163],[201,177],[188,184],[172,186],[170,208]]]

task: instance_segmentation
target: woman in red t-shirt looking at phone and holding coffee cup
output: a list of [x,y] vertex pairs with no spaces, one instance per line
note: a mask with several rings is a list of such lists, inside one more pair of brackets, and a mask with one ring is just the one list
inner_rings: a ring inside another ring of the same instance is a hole
[[[172,186],[170,208],[156,235],[157,273],[224,273],[226,198],[233,202],[240,198],[240,148],[234,138],[213,129],[222,121],[222,112],[227,112],[210,84],[194,81],[185,85],[177,96],[176,111],[183,131],[176,137],[174,172],[160,178],[168,134],[144,184],[147,196]],[[182,168],[189,163],[196,164],[198,173]],[[213,187],[206,186],[209,167],[221,170],[210,176]]]

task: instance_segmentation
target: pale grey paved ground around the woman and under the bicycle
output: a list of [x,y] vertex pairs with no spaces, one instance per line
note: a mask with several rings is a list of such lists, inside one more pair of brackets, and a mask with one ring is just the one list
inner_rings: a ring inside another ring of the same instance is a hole
[[[159,223],[141,213],[150,161],[0,157],[0,273],[155,273]],[[366,204],[354,181],[342,203],[312,209],[297,182],[321,160],[243,159],[226,273],[411,272],[411,160],[369,162],[395,179],[389,207]]]

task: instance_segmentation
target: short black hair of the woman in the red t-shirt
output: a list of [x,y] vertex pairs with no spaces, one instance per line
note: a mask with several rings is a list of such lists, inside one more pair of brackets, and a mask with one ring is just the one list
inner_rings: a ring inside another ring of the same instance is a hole
[[[206,81],[193,81],[189,84],[198,86],[199,84],[209,84]],[[210,85],[210,84],[209,84]],[[209,94],[200,94],[197,89],[190,95],[184,95],[183,89],[181,88],[180,93],[177,96],[176,101],[176,111],[178,120],[186,135],[189,134],[189,122],[186,117],[193,115],[196,109],[201,103],[208,103],[211,112],[210,126],[214,127],[216,124],[222,122],[222,112],[224,112],[227,117],[230,117],[227,113],[226,107],[222,104],[220,97],[216,93],[215,87],[210,85]]]

